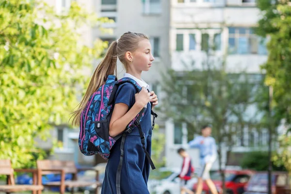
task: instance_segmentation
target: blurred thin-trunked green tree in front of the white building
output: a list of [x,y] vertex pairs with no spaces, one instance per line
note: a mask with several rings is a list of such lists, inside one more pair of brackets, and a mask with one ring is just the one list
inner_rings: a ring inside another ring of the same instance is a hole
[[162,111],[166,118],[187,124],[188,140],[200,132],[202,125],[212,125],[224,183],[223,146],[226,147],[227,163],[235,136],[243,134],[245,128],[253,128],[256,117],[246,111],[254,102],[253,94],[258,83],[252,82],[243,72],[227,73],[224,60],[215,57],[211,51],[205,53],[202,68],[197,68],[193,62],[185,66],[191,68],[183,72],[170,69],[163,76],[162,88],[167,97],[162,100]]

